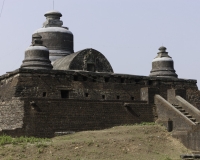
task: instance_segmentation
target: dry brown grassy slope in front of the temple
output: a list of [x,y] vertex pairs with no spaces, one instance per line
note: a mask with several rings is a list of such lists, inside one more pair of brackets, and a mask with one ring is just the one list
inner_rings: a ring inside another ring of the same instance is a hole
[[1,160],[180,160],[190,153],[159,125],[117,126],[0,148]]

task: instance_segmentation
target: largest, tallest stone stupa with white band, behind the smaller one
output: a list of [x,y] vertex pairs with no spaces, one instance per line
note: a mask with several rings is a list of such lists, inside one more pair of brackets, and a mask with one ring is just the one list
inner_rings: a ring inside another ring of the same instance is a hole
[[44,15],[46,21],[43,27],[36,30],[33,36],[39,33],[42,36],[43,45],[49,49],[51,63],[66,55],[74,53],[73,34],[67,27],[63,27],[60,20],[62,14],[52,10]]

